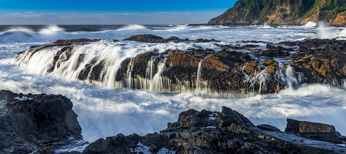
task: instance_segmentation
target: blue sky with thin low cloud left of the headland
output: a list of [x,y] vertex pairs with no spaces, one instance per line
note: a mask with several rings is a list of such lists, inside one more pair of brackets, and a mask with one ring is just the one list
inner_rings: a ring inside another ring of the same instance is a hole
[[0,25],[198,24],[236,0],[0,0]]

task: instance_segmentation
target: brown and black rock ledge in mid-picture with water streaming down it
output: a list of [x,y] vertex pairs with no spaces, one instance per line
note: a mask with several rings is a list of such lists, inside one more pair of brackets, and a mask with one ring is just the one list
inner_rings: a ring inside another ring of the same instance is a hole
[[[154,91],[205,90],[264,94],[276,93],[288,87],[296,88],[303,83],[346,85],[346,40],[308,38],[295,42],[248,40],[225,44],[215,39],[189,40],[135,35],[122,41],[156,44],[211,43],[219,49],[194,45],[194,48],[187,50],[147,51],[123,60],[112,79],[105,77],[109,64],[106,60],[95,57],[85,62],[86,53],[70,60],[74,54],[73,48],[100,41],[101,39],[57,40],[53,44],[31,46],[18,54],[15,63],[25,64],[35,53],[44,49],[61,48],[51,60],[47,74],[64,70],[60,65],[66,61],[76,61],[74,69],[78,71],[79,80],[97,84],[113,80],[116,87]],[[122,43],[119,40],[110,42]]]

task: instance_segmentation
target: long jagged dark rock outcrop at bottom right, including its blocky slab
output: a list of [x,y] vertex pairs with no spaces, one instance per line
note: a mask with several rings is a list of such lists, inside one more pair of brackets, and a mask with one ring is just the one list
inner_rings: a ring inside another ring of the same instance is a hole
[[[271,125],[251,123],[227,107],[221,112],[190,109],[159,133],[118,134],[98,139],[83,154],[339,154],[345,146],[285,134]],[[67,152],[66,154],[81,154]]]

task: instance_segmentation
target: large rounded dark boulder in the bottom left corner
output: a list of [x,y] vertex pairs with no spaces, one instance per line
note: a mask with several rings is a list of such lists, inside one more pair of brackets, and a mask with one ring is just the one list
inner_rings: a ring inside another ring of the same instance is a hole
[[52,154],[55,146],[82,141],[82,128],[65,96],[1,90],[0,106],[0,153]]

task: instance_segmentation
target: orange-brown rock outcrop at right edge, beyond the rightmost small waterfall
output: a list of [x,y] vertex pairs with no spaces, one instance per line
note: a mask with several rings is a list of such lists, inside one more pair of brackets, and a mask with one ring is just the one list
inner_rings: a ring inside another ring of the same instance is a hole
[[346,79],[345,40],[306,39],[299,50],[289,57],[297,72],[302,72],[308,83],[337,85]]

